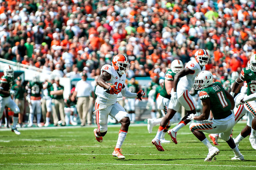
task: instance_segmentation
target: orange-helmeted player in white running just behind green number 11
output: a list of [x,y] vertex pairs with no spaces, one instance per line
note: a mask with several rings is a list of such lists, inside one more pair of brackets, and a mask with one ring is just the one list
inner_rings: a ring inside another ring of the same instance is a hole
[[[156,146],[157,150],[164,151],[163,147],[161,146],[160,136],[162,135],[166,124],[169,122],[170,119],[173,118],[181,105],[187,110],[188,113],[182,118],[182,120],[176,127],[168,130],[167,132],[172,137],[172,141],[175,144],[177,144],[177,131],[190,122],[190,120],[187,120],[186,118],[192,113],[196,114],[195,101],[189,94],[189,91],[194,85],[196,75],[198,75],[199,72],[205,70],[205,65],[208,63],[208,61],[208,52],[205,49],[199,49],[195,53],[195,60],[189,61],[186,64],[185,68],[180,70],[180,72],[175,75],[167,114],[164,116],[163,120],[160,123],[157,135],[152,140],[152,144]],[[177,87],[179,88],[177,89]]]

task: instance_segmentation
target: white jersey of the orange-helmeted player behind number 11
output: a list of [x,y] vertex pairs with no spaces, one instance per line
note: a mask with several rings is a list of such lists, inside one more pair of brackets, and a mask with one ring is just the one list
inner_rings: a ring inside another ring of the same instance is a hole
[[177,89],[190,91],[194,85],[195,77],[198,75],[199,72],[205,70],[205,66],[203,67],[203,69],[201,69],[198,62],[196,62],[195,60],[192,60],[192,61],[189,61],[188,63],[186,63],[185,68],[186,67],[193,70],[194,73],[188,74],[188,75],[180,78],[180,81],[177,84]]

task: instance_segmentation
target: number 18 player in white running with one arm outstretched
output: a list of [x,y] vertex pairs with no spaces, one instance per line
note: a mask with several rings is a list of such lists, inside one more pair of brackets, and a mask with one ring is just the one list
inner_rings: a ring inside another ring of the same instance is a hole
[[112,66],[104,65],[101,69],[101,75],[97,79],[96,86],[96,122],[97,129],[94,129],[94,135],[96,140],[102,142],[102,137],[106,135],[108,130],[108,115],[115,118],[120,124],[119,135],[116,143],[116,147],[112,153],[120,159],[124,159],[125,156],[120,153],[120,148],[125,140],[130,125],[129,114],[125,112],[125,109],[116,102],[117,95],[121,92],[125,98],[139,98],[140,100],[145,93],[140,90],[137,93],[132,93],[125,87],[125,73],[129,69],[128,58],[125,55],[119,54],[113,57]]

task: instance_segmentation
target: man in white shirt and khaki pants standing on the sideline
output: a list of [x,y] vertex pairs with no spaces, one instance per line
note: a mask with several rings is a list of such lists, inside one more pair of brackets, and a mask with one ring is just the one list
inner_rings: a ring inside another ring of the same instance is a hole
[[72,101],[75,101],[75,97],[77,97],[77,112],[81,119],[81,126],[85,126],[86,117],[87,124],[92,123],[92,115],[89,111],[89,100],[90,95],[92,95],[93,100],[95,99],[93,87],[90,82],[87,80],[86,72],[82,72],[82,79],[77,82],[76,89],[71,97]]

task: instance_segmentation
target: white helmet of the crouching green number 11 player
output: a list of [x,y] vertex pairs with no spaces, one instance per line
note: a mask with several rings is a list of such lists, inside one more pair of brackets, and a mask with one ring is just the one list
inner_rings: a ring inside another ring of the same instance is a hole
[[194,88],[196,90],[204,89],[213,83],[213,75],[209,71],[199,72],[195,77]]

